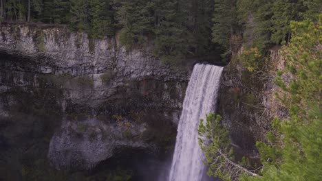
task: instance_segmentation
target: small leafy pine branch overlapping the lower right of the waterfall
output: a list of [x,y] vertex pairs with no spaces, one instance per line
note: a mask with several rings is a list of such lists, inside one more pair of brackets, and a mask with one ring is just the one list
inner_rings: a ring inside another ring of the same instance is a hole
[[228,131],[220,123],[221,117],[216,119],[213,113],[206,115],[206,123],[200,120],[198,134],[199,144],[205,153],[204,164],[208,166],[208,176],[215,176],[223,180],[236,180],[241,174],[257,176],[257,173],[250,171],[246,161],[235,162],[233,147],[230,146]]

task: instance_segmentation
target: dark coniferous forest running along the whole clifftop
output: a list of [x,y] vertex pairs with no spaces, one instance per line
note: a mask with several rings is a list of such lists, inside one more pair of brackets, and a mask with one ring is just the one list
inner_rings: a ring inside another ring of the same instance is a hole
[[[219,51],[228,60],[241,42],[261,53],[291,38],[290,21],[317,21],[319,0],[1,0],[0,21],[63,24],[92,38],[120,31],[128,48],[154,40],[167,62]],[[216,45],[219,45],[216,46]]]

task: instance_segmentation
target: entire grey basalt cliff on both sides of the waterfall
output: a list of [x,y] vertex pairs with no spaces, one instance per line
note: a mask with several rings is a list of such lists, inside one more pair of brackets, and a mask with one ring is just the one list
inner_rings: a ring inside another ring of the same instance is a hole
[[[93,40],[63,26],[3,23],[0,32],[0,178],[63,180],[55,171],[171,156],[193,62],[169,66],[151,45],[129,50],[117,36]],[[250,75],[236,57],[224,67],[217,112],[237,154],[258,158],[255,141],[287,112],[273,96],[274,73]],[[272,50],[270,71],[283,67],[278,57]]]

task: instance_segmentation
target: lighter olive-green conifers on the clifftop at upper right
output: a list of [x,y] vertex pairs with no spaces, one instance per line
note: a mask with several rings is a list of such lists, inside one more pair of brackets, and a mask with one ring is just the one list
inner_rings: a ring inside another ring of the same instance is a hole
[[314,19],[316,13],[321,12],[321,6],[315,0],[237,1],[240,23],[244,25],[245,41],[249,47],[257,47],[259,51],[265,51],[272,45],[288,43],[291,38],[290,22]]

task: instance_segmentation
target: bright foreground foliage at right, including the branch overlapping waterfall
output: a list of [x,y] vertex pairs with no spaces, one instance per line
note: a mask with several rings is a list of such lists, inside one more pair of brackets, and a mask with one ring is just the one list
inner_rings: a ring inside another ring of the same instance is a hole
[[[275,79],[281,88],[276,97],[290,116],[286,120],[275,118],[268,143],[257,142],[263,165],[259,176],[250,171],[250,165],[233,162],[227,131],[219,118],[213,120],[213,114],[207,117],[206,125],[201,121],[199,130],[209,175],[224,180],[321,180],[322,14],[317,23],[292,21],[290,29],[292,39],[280,51],[286,69],[277,72]],[[204,136],[211,139],[210,144],[203,141]],[[218,164],[217,160],[229,160],[229,164]]]

